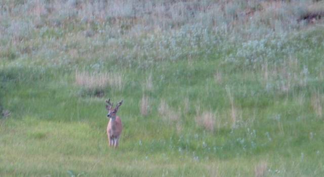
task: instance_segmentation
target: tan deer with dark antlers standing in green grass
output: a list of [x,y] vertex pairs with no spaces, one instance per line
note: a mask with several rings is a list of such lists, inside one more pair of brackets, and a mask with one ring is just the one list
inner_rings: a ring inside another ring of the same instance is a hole
[[107,118],[109,122],[107,125],[107,136],[109,141],[109,147],[117,148],[119,144],[119,136],[123,130],[123,124],[116,113],[123,103],[123,100],[117,103],[116,107],[113,109],[113,103],[110,102],[110,99],[106,100],[106,110],[108,111]]

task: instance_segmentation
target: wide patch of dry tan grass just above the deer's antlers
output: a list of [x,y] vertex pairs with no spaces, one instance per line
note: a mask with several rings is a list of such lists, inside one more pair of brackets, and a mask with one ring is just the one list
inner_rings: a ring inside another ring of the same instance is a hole
[[87,89],[103,89],[108,85],[116,89],[123,89],[123,75],[110,73],[75,72],[76,85]]

